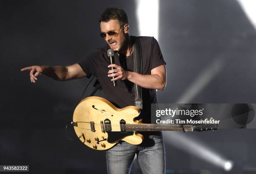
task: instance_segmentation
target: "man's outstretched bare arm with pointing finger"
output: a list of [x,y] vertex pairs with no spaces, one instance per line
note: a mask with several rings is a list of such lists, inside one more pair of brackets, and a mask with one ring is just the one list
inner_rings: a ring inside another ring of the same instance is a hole
[[86,76],[86,73],[77,63],[70,66],[29,66],[22,68],[20,71],[30,71],[30,80],[33,83],[36,83],[36,77],[40,74],[57,81],[68,81]]

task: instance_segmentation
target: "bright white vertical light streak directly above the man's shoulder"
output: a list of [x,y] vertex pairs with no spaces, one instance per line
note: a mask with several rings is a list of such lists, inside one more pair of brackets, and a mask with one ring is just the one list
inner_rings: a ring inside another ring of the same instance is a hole
[[154,36],[158,40],[159,0],[136,0],[138,30],[141,36]]

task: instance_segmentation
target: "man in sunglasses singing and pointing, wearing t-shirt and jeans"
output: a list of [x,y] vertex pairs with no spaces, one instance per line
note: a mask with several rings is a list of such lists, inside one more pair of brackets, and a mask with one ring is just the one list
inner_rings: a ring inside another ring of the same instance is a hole
[[[166,85],[165,62],[159,44],[154,37],[130,36],[128,18],[122,9],[107,8],[99,22],[100,36],[107,42],[104,47],[70,66],[30,66],[21,71],[30,71],[32,83],[36,83],[39,74],[58,81],[96,76],[106,99],[118,108],[134,105],[134,84],[137,84],[142,87],[142,122],[150,123],[151,103],[157,103],[156,89],[163,90]],[[136,40],[141,44],[141,74],[134,72],[133,43]],[[108,58],[107,51],[110,48],[115,51],[115,64],[110,64]],[[111,70],[111,67],[114,69]],[[111,81],[116,81],[117,86],[113,87]],[[161,132],[140,134],[144,136],[140,145],[120,141],[107,150],[108,174],[129,174],[135,155],[143,174],[165,174],[165,149]]]

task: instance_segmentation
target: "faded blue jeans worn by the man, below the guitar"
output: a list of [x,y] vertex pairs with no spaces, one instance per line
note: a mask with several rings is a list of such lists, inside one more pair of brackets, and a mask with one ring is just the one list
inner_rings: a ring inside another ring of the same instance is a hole
[[140,145],[121,141],[107,151],[108,174],[130,174],[137,154],[143,174],[165,174],[165,148],[162,136],[144,136]]

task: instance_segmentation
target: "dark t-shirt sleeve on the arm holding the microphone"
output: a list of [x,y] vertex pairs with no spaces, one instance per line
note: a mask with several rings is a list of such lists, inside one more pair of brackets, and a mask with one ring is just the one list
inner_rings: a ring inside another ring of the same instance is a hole
[[164,61],[164,57],[161,53],[157,40],[153,37],[151,70],[161,65],[166,65],[166,62]]

